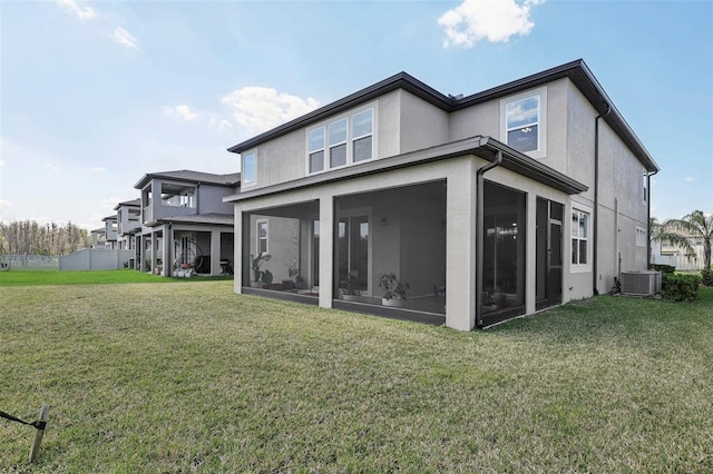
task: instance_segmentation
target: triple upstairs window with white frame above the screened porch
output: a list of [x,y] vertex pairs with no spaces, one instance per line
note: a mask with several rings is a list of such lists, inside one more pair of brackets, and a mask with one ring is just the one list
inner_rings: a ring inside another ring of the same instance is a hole
[[307,174],[354,165],[374,157],[374,109],[307,131]]

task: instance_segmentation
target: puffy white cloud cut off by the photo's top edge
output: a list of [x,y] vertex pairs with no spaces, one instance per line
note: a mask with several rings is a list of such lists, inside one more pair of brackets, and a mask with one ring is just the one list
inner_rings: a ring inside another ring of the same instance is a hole
[[530,8],[544,0],[463,0],[438,19],[446,31],[443,47],[472,47],[480,40],[508,42],[514,36],[526,36],[535,23]]

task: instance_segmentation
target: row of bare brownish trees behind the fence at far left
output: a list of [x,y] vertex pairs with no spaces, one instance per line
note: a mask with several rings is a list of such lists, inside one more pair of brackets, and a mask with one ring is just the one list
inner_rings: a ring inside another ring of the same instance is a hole
[[72,224],[0,221],[0,255],[67,255],[91,247],[87,229]]

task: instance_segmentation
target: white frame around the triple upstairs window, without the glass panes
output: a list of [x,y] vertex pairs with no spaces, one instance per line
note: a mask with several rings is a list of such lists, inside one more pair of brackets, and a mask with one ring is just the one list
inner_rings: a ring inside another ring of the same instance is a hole
[[[361,113],[365,113],[365,112],[370,112],[371,113],[371,131],[368,134],[362,134],[359,136],[354,136],[354,117],[361,115]],[[372,161],[377,158],[377,103],[372,102],[372,103],[368,103],[361,108],[358,109],[353,109],[350,110],[349,112],[345,113],[341,113],[339,116],[335,116],[333,118],[331,118],[328,121],[323,121],[320,124],[316,124],[314,127],[307,128],[306,129],[306,134],[305,134],[305,175],[306,176],[311,176],[311,175],[319,175],[322,172],[326,172],[330,171],[332,169],[339,169],[339,168],[345,168],[349,166],[354,166],[354,165],[361,165],[362,162],[369,162]],[[345,141],[334,141],[332,142],[331,139],[331,134],[330,134],[330,128],[339,122],[345,121],[346,122],[346,139]],[[318,130],[323,130],[324,134],[324,142],[323,142],[323,148],[320,149],[310,149],[310,136],[318,131]],[[371,137],[371,158],[369,159],[363,159],[361,161],[354,161],[354,142],[356,140],[367,138],[367,137]],[[338,165],[332,167],[332,162],[331,162],[331,150],[334,147],[339,147],[341,145],[345,145],[346,148],[346,162],[344,165]],[[311,155],[319,152],[319,151],[323,151],[324,152],[324,161],[323,161],[323,168],[321,170],[316,170],[316,171],[312,171],[310,169],[310,157]]]

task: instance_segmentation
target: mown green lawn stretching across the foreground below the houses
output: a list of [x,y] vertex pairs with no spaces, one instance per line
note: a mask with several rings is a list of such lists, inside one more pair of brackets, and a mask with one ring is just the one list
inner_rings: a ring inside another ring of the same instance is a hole
[[[4,276],[3,276],[4,278]],[[487,332],[232,282],[0,287],[0,472],[711,472],[713,289]]]

